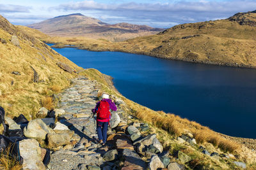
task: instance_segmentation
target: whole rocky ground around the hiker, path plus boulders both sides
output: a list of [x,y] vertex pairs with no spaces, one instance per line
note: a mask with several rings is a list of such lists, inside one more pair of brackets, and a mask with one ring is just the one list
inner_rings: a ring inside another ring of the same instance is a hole
[[[111,131],[109,128],[106,145],[100,145],[97,143],[91,109],[100,99],[98,96],[103,86],[102,83],[88,78],[90,76],[72,79],[72,87],[57,96],[60,97],[58,109],[48,111],[41,108],[38,111],[38,114],[48,118],[37,118],[26,125],[15,124],[13,120],[6,118],[11,129],[21,127],[24,136],[30,138],[19,141],[24,167],[44,169],[44,164],[46,169],[181,170],[252,167],[248,162],[247,165],[241,162],[241,155],[223,153],[207,143],[197,144],[191,132],[177,138],[161,134],[156,127],[127,115],[125,108],[129,106],[122,98],[114,95],[111,95],[111,99],[115,101],[118,110],[112,112],[113,129]],[[156,130],[158,132],[154,134]],[[169,139],[163,139],[163,136]],[[166,145],[170,140],[172,143]],[[51,149],[51,160],[44,161],[44,164],[43,146]],[[250,154],[253,157],[255,153]]]

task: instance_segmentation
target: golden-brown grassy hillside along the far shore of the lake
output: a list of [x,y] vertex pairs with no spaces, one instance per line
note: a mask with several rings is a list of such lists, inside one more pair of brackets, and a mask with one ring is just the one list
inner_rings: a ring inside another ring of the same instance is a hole
[[102,51],[141,53],[154,57],[223,66],[256,68],[256,13],[237,13],[225,20],[176,25],[157,35],[119,43],[83,38],[45,38],[62,45]]

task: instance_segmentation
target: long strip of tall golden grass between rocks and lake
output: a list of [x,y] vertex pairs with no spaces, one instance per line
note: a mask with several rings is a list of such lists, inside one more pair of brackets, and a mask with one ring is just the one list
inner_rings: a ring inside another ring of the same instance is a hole
[[186,118],[180,118],[170,113],[166,114],[163,111],[153,111],[128,100],[126,103],[132,107],[136,117],[174,136],[180,136],[189,129],[189,131],[193,132],[197,143],[209,142],[224,152],[234,152],[239,148],[237,143],[223,138],[220,134],[217,134],[208,127],[204,127],[196,122],[190,122]]

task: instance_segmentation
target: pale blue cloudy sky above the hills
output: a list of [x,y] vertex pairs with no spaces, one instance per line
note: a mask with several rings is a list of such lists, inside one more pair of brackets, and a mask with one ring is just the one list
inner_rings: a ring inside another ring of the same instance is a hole
[[129,22],[167,28],[188,22],[228,18],[237,12],[253,10],[256,10],[255,0],[0,0],[0,15],[16,25],[82,13],[109,24]]

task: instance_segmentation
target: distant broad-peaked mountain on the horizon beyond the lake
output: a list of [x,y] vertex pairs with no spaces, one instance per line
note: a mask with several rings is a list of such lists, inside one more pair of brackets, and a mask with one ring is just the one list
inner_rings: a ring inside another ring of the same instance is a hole
[[110,41],[122,41],[137,36],[157,34],[163,29],[128,23],[107,24],[81,13],[54,17],[28,25],[50,36],[84,36],[86,38],[104,38]]

